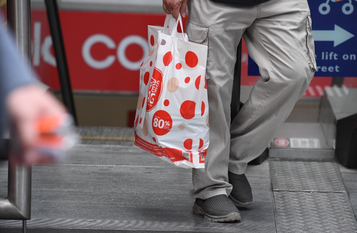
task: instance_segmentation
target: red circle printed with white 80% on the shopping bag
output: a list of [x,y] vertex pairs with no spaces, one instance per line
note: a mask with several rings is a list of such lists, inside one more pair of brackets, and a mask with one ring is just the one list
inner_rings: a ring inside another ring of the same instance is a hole
[[162,136],[170,132],[172,127],[172,118],[167,111],[156,111],[152,117],[152,129],[156,135]]

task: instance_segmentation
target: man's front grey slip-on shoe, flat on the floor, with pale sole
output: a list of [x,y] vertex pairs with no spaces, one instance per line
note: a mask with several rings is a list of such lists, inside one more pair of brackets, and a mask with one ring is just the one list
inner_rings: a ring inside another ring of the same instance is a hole
[[232,222],[241,220],[241,214],[227,195],[216,195],[206,200],[196,198],[193,212],[202,214],[203,218],[212,222]]

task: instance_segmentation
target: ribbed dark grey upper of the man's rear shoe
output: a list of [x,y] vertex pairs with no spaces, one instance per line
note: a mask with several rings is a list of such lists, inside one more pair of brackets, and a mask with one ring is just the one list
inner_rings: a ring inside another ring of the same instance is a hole
[[228,172],[228,182],[233,185],[231,192],[233,198],[242,203],[252,202],[252,188],[245,174],[238,175]]

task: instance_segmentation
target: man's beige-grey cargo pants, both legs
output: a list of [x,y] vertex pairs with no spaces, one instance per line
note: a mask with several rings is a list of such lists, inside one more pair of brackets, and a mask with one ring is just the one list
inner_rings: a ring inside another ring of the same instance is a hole
[[[243,174],[273,139],[316,70],[307,0],[235,6],[188,0],[186,33],[208,46],[210,145],[206,168],[193,169],[192,198],[229,195],[228,170]],[[237,45],[243,36],[261,77],[230,125]]]

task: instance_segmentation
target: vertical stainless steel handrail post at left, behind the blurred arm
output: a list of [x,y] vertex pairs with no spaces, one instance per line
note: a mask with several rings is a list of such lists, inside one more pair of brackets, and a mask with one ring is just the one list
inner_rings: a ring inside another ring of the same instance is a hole
[[[30,0],[7,1],[7,21],[14,33],[17,50],[22,59],[31,64]],[[26,233],[26,220],[31,218],[31,166],[16,163],[19,147],[10,143],[7,197],[0,198],[0,219],[22,220]],[[12,144],[12,145],[11,145]],[[17,151],[16,151],[17,150]]]

